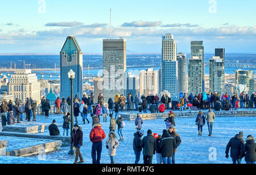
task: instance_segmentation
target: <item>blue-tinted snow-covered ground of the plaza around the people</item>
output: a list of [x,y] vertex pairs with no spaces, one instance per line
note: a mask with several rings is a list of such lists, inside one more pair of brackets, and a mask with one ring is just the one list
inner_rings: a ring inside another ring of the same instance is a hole
[[[59,125],[60,133],[63,133],[62,115],[51,115],[49,118],[44,116],[38,116],[37,121],[30,123],[51,123],[52,119],[56,119],[56,123]],[[89,140],[89,133],[92,129],[92,119],[89,117],[89,124],[83,125],[79,117],[79,125],[82,126],[84,132],[83,146],[81,147],[81,153],[84,157],[85,163],[92,163],[91,148],[92,142]],[[165,129],[164,119],[152,119],[145,120],[143,124],[143,130],[146,132],[151,129],[153,133],[162,134]],[[101,117],[102,121],[102,117]],[[23,121],[26,122],[26,121]],[[243,138],[247,135],[256,135],[256,117],[217,117],[213,123],[213,136],[208,136],[207,124],[203,127],[203,136],[198,136],[197,126],[195,125],[195,118],[176,118],[176,130],[182,140],[181,145],[176,152],[176,163],[215,163],[224,164],[231,163],[232,160],[225,158],[225,147],[229,139],[232,138],[239,131],[243,131]],[[26,122],[27,123],[27,122]],[[135,132],[134,121],[125,121],[125,127],[123,128],[124,140],[119,143],[117,148],[117,154],[114,156],[115,163],[134,163],[135,155],[133,152],[133,134]],[[106,135],[109,133],[109,118],[108,122],[101,123],[102,129],[105,130]],[[115,131],[117,133],[117,130]],[[48,130],[45,133],[49,134]],[[2,139],[2,138],[1,138]],[[119,139],[119,136],[118,136]],[[101,163],[110,163],[108,156],[108,150],[105,147],[105,140],[102,147]],[[213,151],[209,149],[216,149],[216,160],[209,159],[209,154]],[[73,163],[75,156],[68,155],[69,147],[61,147],[61,150],[47,153],[46,160],[50,160],[51,163]],[[16,159],[13,163],[16,163]],[[8,158],[8,161],[11,157]],[[0,163],[3,162],[3,157],[0,157]],[[7,159],[6,159],[7,160]],[[45,163],[44,160],[39,160],[38,156],[30,156],[27,159],[22,160],[21,163]],[[139,163],[143,163],[143,155]],[[156,157],[154,155],[152,163],[156,163]],[[245,163],[242,160],[242,163]]]

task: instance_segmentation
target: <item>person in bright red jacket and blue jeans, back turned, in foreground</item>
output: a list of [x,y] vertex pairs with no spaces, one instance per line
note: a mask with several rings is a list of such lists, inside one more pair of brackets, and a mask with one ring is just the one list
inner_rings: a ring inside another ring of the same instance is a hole
[[[106,134],[101,129],[101,124],[96,123],[93,125],[93,129],[90,131],[90,141],[92,141],[92,163],[100,164],[101,151],[102,151],[102,140],[105,139]],[[97,152],[97,160],[96,160]]]

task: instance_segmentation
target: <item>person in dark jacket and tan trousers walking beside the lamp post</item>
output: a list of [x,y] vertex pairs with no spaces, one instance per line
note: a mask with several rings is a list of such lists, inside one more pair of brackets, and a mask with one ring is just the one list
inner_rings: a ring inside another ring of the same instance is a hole
[[[77,124],[75,124],[73,127],[70,144],[71,146],[73,145],[76,148],[76,157],[75,157],[74,164],[83,163],[84,159],[82,159],[82,155],[80,152],[80,148],[82,146],[82,127],[78,126]],[[78,157],[80,159],[79,162],[77,162]]]

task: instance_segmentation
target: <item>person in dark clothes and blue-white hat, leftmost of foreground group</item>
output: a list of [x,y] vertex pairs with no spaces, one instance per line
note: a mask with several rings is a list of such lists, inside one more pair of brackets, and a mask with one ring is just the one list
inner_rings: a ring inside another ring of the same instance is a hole
[[141,137],[144,134],[144,130],[138,130],[136,131],[136,133],[134,133],[134,138],[133,138],[133,151],[135,154],[135,163],[134,164],[138,164],[139,160],[141,159],[141,151],[142,151],[142,147],[141,147]]

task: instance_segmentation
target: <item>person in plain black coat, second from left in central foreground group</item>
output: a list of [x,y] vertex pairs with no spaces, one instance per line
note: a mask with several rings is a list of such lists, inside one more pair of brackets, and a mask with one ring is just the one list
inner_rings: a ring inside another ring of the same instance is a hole
[[155,138],[151,130],[147,130],[147,136],[141,140],[141,147],[143,148],[143,162],[144,164],[152,164],[152,158],[155,152]]

